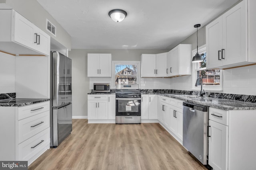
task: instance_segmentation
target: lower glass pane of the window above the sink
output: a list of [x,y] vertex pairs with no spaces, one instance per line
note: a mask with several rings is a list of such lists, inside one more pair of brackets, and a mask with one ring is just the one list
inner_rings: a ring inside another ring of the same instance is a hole
[[[197,78],[201,77],[204,86],[217,86],[220,85],[220,70],[200,70],[197,71]],[[201,82],[198,81],[198,86],[201,86]]]

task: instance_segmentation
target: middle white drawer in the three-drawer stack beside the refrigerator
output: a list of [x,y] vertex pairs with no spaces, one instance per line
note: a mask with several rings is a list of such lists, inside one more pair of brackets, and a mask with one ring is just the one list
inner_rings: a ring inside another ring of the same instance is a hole
[[50,111],[18,121],[18,143],[50,127]]

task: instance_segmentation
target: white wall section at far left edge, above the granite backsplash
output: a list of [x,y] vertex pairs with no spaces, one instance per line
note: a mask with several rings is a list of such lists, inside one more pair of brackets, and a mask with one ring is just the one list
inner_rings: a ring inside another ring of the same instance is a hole
[[0,94],[15,92],[15,56],[0,52]]

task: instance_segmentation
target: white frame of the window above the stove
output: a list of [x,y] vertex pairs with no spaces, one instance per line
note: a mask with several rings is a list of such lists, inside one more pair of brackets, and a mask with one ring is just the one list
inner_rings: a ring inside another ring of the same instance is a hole
[[[115,75],[116,75],[116,64],[126,64],[126,65],[137,65],[137,84],[140,88],[140,61],[112,61],[112,78],[111,78],[111,88],[116,89]],[[128,74],[127,74],[128,75]]]

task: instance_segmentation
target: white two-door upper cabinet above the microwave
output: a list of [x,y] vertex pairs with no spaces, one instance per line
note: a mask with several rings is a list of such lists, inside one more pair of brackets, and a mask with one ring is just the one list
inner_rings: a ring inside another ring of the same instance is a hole
[[88,53],[88,77],[111,77],[111,54]]

